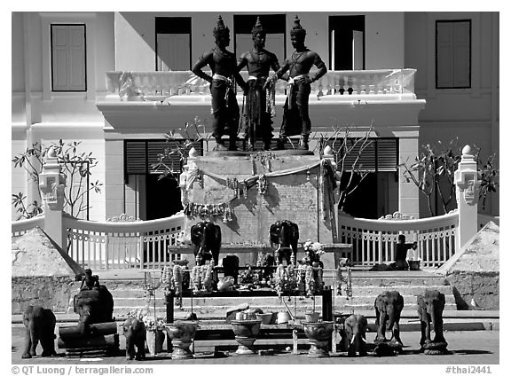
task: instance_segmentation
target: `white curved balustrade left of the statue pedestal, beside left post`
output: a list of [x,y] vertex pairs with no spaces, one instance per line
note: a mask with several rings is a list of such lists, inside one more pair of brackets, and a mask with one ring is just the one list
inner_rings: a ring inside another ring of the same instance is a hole
[[185,215],[140,222],[90,222],[63,218],[67,253],[84,268],[161,269],[169,246],[183,236]]

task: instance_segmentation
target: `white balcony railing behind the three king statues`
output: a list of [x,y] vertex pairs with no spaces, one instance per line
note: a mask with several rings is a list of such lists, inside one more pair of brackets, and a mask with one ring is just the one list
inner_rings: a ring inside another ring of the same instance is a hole
[[[414,94],[415,69],[380,69],[361,71],[328,71],[311,85],[311,94],[345,96],[346,98],[376,95]],[[246,71],[241,72],[244,79]],[[109,99],[162,100],[175,96],[205,95],[209,83],[191,71],[106,73]],[[287,82],[279,80],[276,94],[283,95]],[[118,96],[118,98],[116,98]]]

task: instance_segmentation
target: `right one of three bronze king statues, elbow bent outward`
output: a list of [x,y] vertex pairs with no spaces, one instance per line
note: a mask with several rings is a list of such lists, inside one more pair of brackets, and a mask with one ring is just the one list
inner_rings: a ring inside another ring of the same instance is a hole
[[[271,80],[275,81],[278,78],[283,78],[284,74],[289,72],[284,118],[274,150],[284,150],[287,137],[296,135],[301,135],[300,150],[309,150],[309,136],[311,135],[309,94],[311,94],[311,82],[317,81],[326,74],[326,66],[318,53],[305,47],[306,31],[300,25],[298,16],[295,17],[290,35],[291,44],[295,51],[284,61],[282,67]],[[318,68],[318,71],[311,75],[309,72],[313,65]]]

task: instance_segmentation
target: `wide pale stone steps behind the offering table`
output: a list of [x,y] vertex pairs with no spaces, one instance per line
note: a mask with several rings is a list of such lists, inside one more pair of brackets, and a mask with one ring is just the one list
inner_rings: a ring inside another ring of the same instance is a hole
[[[155,273],[156,275],[157,273]],[[122,276],[118,272],[115,278],[101,277],[100,281],[106,285],[114,296],[114,317],[118,320],[127,317],[131,309],[143,309],[147,304],[145,298],[144,273],[138,273],[138,278],[127,275]],[[326,284],[331,285],[332,279],[326,278]],[[334,294],[334,311],[351,313],[352,311],[373,315],[374,300],[378,294],[387,290],[397,290],[405,300],[404,314],[415,317],[417,306],[417,295],[424,290],[436,289],[445,294],[445,310],[456,310],[452,286],[449,286],[445,278],[427,271],[366,271],[354,270],[352,272],[352,296],[346,297],[342,285],[342,295]],[[156,294],[156,316],[165,317],[166,308],[163,290],[157,289]],[[293,315],[303,317],[306,309],[314,306],[321,311],[321,297],[311,298],[284,298],[288,309]],[[194,297],[183,298],[183,309],[175,307],[176,318],[185,317],[185,314],[192,310],[199,318],[219,319],[225,317],[225,312],[232,306],[248,303],[250,307],[259,307],[264,312],[284,311],[286,305],[278,297]],[[150,303],[151,309],[154,302]],[[71,309],[72,310],[72,309]]]

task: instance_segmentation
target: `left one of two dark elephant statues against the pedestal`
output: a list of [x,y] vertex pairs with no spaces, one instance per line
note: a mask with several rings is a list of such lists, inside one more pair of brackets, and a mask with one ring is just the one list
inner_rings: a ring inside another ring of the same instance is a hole
[[203,221],[193,224],[190,231],[196,264],[204,265],[208,260],[213,259],[213,266],[218,265],[218,255],[220,255],[220,247],[222,246],[220,226],[209,221]]

